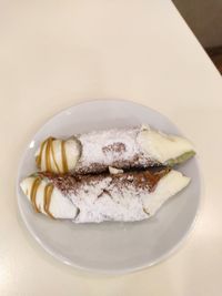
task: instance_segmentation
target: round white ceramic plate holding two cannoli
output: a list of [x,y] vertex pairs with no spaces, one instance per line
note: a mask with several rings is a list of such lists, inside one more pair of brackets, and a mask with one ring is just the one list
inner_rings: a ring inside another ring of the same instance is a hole
[[167,202],[158,214],[135,223],[75,225],[36,214],[20,190],[20,181],[36,171],[40,142],[98,129],[148,123],[167,133],[181,134],[165,116],[149,108],[119,100],[99,100],[71,106],[49,120],[29,143],[18,173],[18,203],[32,236],[51,255],[81,269],[105,274],[128,273],[151,266],[171,254],[188,234],[200,202],[200,173],[195,157],[179,170],[191,184]]

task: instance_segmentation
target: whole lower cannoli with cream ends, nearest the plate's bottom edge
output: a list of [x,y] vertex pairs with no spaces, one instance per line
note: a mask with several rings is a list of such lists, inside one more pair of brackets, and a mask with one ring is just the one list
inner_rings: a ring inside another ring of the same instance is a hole
[[190,178],[162,167],[140,172],[70,175],[39,172],[21,182],[36,212],[74,223],[142,221],[180,192]]

